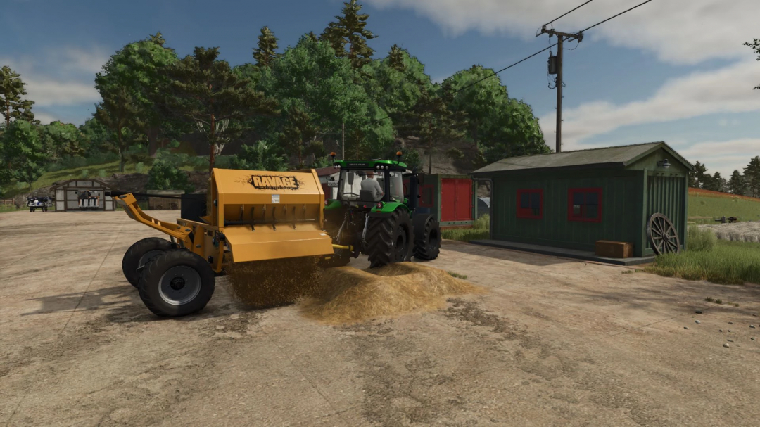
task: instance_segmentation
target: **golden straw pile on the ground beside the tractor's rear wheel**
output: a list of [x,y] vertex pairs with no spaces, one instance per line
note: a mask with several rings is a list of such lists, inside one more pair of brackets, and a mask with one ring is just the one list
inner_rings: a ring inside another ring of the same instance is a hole
[[483,291],[443,270],[409,262],[366,271],[332,268],[322,272],[320,283],[299,308],[307,318],[327,324],[432,311],[445,305],[444,296]]

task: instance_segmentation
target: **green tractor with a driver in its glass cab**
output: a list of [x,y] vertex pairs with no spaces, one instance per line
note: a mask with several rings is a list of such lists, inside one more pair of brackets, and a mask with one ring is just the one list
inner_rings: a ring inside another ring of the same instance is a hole
[[332,153],[340,177],[328,181],[328,188],[337,187],[337,198],[325,197],[325,229],[343,248],[325,260],[328,266],[346,265],[359,254],[367,255],[370,267],[410,261],[412,256],[438,257],[438,221],[417,210],[417,173],[401,163],[401,152],[396,154],[395,161],[336,161]]

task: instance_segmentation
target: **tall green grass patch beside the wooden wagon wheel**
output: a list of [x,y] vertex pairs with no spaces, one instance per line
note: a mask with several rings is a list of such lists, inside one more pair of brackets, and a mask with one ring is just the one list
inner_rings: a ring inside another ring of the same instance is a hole
[[646,271],[724,284],[760,284],[760,244],[718,240],[708,250],[660,255]]

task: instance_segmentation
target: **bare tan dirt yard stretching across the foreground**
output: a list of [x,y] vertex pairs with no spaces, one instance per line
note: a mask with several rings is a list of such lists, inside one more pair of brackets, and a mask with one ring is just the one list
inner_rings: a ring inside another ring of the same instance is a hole
[[431,264],[489,293],[331,327],[220,280],[163,320],[121,273],[147,236],[121,212],[0,215],[0,425],[758,425],[757,286],[445,242]]

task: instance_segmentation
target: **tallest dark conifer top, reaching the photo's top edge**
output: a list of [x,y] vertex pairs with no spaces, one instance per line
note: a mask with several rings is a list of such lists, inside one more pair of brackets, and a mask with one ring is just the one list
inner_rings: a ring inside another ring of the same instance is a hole
[[[376,36],[365,27],[369,14],[360,14],[362,5],[356,0],[344,2],[343,15],[337,15],[337,22],[331,22],[321,35],[321,40],[327,40],[335,50],[335,55],[346,56],[354,68],[362,68],[369,63],[372,53],[375,52],[367,46],[367,40]],[[346,44],[350,47],[346,51]]]

